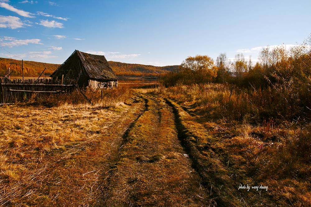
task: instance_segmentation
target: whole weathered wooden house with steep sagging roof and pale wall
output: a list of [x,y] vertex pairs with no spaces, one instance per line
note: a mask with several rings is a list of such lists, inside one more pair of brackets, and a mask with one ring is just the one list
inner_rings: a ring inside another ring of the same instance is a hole
[[68,59],[51,74],[63,84],[75,82],[80,88],[94,90],[118,87],[118,78],[103,55],[93,55],[75,50]]

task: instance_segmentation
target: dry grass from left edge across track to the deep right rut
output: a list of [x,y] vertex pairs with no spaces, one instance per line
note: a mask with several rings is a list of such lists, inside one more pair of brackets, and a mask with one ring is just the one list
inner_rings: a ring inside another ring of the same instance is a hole
[[137,93],[148,88],[105,91],[109,101],[86,91],[93,105],[73,93],[1,106],[1,205],[211,204],[172,109]]

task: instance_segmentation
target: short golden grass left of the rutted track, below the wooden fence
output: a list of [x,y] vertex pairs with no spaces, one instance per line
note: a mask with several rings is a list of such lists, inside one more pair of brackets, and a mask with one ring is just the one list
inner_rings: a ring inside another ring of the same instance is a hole
[[96,203],[99,180],[109,171],[101,163],[122,141],[120,136],[143,105],[123,104],[124,94],[131,92],[123,92],[122,98],[113,95],[117,91],[105,93],[109,92],[112,100],[94,105],[0,107],[1,205]]

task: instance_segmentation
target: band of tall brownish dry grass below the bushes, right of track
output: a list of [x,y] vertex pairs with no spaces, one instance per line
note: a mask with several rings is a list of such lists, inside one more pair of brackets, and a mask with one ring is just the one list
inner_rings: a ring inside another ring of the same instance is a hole
[[158,94],[187,102],[189,107],[211,119],[243,121],[251,124],[263,123],[273,119],[282,123],[309,123],[311,110],[299,105],[299,99],[292,97],[293,92],[285,88],[264,90],[238,88],[231,84],[193,84],[177,85],[165,88],[159,86],[154,90]]

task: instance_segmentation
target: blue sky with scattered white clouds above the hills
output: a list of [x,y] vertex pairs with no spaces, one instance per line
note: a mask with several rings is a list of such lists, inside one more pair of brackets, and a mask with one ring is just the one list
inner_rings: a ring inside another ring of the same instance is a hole
[[77,49],[164,66],[243,52],[255,62],[267,45],[303,43],[310,9],[310,0],[0,0],[0,57],[61,64]]

